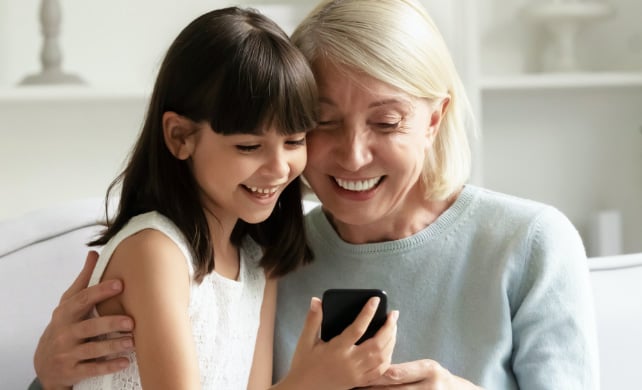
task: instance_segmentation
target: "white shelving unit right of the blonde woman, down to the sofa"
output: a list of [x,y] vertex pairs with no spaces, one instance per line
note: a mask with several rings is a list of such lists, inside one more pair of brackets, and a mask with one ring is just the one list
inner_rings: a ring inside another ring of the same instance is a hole
[[641,252],[642,25],[633,15],[642,3],[591,0],[615,8],[578,37],[578,59],[592,71],[541,73],[547,37],[523,18],[529,1],[459,1],[471,7],[464,71],[473,75],[483,184],[556,206],[587,247],[592,215],[616,210],[623,251]]

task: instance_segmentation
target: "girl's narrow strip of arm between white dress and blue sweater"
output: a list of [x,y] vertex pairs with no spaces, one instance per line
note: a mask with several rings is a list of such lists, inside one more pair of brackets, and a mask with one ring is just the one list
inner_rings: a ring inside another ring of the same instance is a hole
[[261,325],[256,338],[256,349],[250,372],[248,390],[265,390],[272,384],[272,351],[274,344],[274,318],[276,313],[276,279],[267,279],[263,304],[261,305]]

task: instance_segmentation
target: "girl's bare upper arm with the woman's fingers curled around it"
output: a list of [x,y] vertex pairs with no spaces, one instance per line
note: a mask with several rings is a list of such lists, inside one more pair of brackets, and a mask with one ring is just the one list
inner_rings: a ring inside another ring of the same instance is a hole
[[174,242],[159,231],[143,230],[120,243],[104,277],[123,281],[122,295],[98,310],[134,319],[143,388],[200,388],[188,313],[190,276]]

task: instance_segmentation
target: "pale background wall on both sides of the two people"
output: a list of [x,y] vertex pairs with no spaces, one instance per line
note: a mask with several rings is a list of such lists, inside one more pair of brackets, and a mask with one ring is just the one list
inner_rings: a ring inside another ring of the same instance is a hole
[[[167,46],[198,14],[232,3],[59,1],[63,68],[87,80],[85,92],[59,88],[29,92],[34,90],[15,87],[40,68],[39,0],[0,0],[0,218],[71,198],[103,196],[136,138],[147,94]],[[479,3],[481,12],[472,16],[479,19],[483,34],[472,35],[481,43],[463,42],[462,31],[469,26],[458,11],[473,9],[470,3],[476,1],[424,3],[466,77],[477,72],[478,64],[470,55],[477,44],[482,46],[480,72],[515,72],[516,67],[524,66],[519,63],[523,57],[515,57],[521,52],[515,49],[525,35],[521,22],[511,15],[524,1]],[[268,0],[254,1],[288,32],[315,2],[290,0],[296,8],[288,14]],[[637,0],[617,0],[617,5],[625,21],[641,11]],[[497,26],[488,25],[492,18]],[[610,58],[619,58],[626,68],[632,68],[642,64],[642,27],[623,26],[628,25],[609,21],[599,29],[611,28],[619,37],[617,44],[609,46]],[[497,40],[497,28],[506,39]],[[583,56],[596,56],[587,42],[599,43],[599,33],[595,29],[587,32]],[[593,63],[606,66],[599,58]],[[484,184],[559,207],[585,239],[589,213],[616,208],[623,214],[625,251],[642,251],[639,90],[484,91],[480,95],[471,90],[475,99],[484,99],[480,116],[483,159],[478,161]]]

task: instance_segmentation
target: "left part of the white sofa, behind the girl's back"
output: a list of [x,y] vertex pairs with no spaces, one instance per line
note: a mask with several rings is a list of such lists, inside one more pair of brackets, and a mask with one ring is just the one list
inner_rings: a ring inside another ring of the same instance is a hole
[[33,353],[62,293],[102,228],[99,199],[67,203],[0,223],[0,387],[26,389]]

